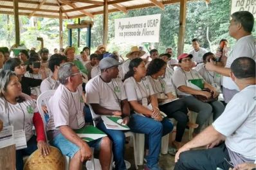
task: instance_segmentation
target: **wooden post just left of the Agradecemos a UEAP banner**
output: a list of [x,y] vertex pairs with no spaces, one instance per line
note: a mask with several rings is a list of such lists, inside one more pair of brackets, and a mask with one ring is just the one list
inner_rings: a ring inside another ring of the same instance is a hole
[[103,45],[107,47],[107,33],[108,33],[108,20],[109,20],[109,10],[107,0],[104,0],[104,10],[103,10]]

